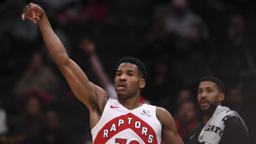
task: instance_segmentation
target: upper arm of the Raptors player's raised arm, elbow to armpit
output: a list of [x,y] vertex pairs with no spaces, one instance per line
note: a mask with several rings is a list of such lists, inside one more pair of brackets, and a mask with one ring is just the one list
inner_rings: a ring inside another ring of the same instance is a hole
[[73,61],[69,60],[65,65],[60,67],[60,71],[67,80],[70,89],[72,89],[75,96],[90,109],[91,103],[97,103],[96,89],[90,83],[85,73]]

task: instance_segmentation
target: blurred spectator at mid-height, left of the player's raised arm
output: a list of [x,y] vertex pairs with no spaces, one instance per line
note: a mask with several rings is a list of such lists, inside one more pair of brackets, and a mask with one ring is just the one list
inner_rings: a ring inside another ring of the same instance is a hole
[[35,53],[31,58],[29,67],[17,82],[14,90],[17,95],[24,95],[31,90],[55,94],[57,86],[58,79],[43,62],[43,56],[40,53]]

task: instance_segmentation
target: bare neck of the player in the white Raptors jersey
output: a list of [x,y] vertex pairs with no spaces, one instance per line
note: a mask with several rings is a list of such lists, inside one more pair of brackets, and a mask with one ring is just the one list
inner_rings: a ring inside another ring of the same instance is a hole
[[136,109],[142,104],[139,103],[139,96],[130,97],[128,99],[118,98],[119,103],[121,103],[126,109],[132,110]]

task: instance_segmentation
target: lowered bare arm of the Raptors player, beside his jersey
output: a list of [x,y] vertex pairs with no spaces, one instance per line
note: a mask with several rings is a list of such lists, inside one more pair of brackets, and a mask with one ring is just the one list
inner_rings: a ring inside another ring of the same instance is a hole
[[166,109],[157,107],[156,116],[157,118],[159,118],[159,121],[162,126],[162,133],[161,133],[162,142],[164,144],[169,144],[169,143],[183,144],[181,137],[178,135],[174,118],[171,116],[169,111],[166,111]]

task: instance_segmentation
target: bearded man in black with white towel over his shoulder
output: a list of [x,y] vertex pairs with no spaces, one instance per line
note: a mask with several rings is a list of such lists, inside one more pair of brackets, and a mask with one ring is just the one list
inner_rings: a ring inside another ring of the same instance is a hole
[[248,131],[244,121],[235,111],[221,106],[225,98],[224,84],[217,77],[200,79],[198,104],[203,121],[186,136],[186,144],[247,144]]

